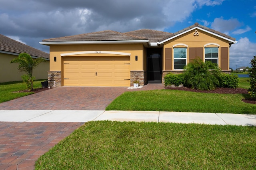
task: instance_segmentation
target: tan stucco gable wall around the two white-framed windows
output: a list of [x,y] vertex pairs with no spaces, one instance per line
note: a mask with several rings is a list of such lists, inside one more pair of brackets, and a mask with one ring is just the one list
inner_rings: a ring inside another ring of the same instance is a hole
[[[216,43],[219,46],[219,58],[218,58],[218,64],[219,66],[221,65],[221,47],[229,47],[229,42],[227,40],[224,40],[222,38],[219,38],[217,36],[214,36],[212,34],[209,34],[207,32],[204,32],[202,30],[198,30],[196,29],[199,33],[198,36],[194,36],[194,32],[195,30],[192,30],[190,32],[187,32],[181,36],[178,36],[168,42],[165,42],[164,43],[164,51],[165,51],[165,48],[172,48],[172,70],[174,70],[174,64],[173,64],[173,61],[174,61],[174,58],[173,58],[173,45],[176,45],[178,43],[183,43],[183,44],[186,44],[188,45],[187,48],[189,47],[203,47],[203,54],[204,54],[204,45],[208,44],[208,43]],[[175,47],[185,47],[183,45],[178,45],[178,46],[175,46]],[[218,47],[216,45],[207,45],[206,47]],[[229,48],[228,48],[229,49]],[[229,56],[229,50],[228,50],[228,56]],[[164,58],[165,58],[165,53],[164,53]],[[228,58],[229,60],[229,58]],[[164,61],[164,67],[165,68],[165,59],[163,60]],[[187,64],[189,63],[189,50],[187,50]],[[229,63],[228,63],[228,67],[229,67]]]

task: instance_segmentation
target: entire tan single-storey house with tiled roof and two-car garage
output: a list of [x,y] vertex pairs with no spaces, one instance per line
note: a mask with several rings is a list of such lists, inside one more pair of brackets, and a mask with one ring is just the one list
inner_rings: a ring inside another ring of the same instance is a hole
[[195,23],[174,34],[156,30],[93,32],[46,39],[50,46],[48,81],[56,86],[128,87],[163,83],[197,57],[229,72],[234,38]]

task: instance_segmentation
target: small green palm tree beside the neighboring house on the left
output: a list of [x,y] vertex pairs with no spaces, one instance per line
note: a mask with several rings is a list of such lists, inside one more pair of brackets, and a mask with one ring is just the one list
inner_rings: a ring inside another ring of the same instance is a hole
[[35,67],[38,66],[41,62],[46,62],[43,58],[33,59],[28,53],[20,53],[20,55],[14,58],[11,63],[18,63],[18,71],[25,72],[25,75],[22,75],[23,82],[26,82],[27,88],[33,90],[33,81],[35,77],[32,77],[32,71]]

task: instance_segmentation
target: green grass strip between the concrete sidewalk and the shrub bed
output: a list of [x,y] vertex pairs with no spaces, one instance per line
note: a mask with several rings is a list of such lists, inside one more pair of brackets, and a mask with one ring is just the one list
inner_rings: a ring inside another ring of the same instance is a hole
[[256,105],[242,102],[243,98],[179,90],[132,91],[117,97],[106,110],[255,114]]

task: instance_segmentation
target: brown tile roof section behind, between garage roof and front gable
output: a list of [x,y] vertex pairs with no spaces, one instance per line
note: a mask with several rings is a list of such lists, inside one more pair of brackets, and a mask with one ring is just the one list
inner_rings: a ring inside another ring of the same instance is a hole
[[148,29],[126,32],[125,34],[146,37],[148,38],[149,42],[158,42],[159,40],[162,40],[172,35],[172,33],[170,32],[162,32],[162,31],[148,30]]

